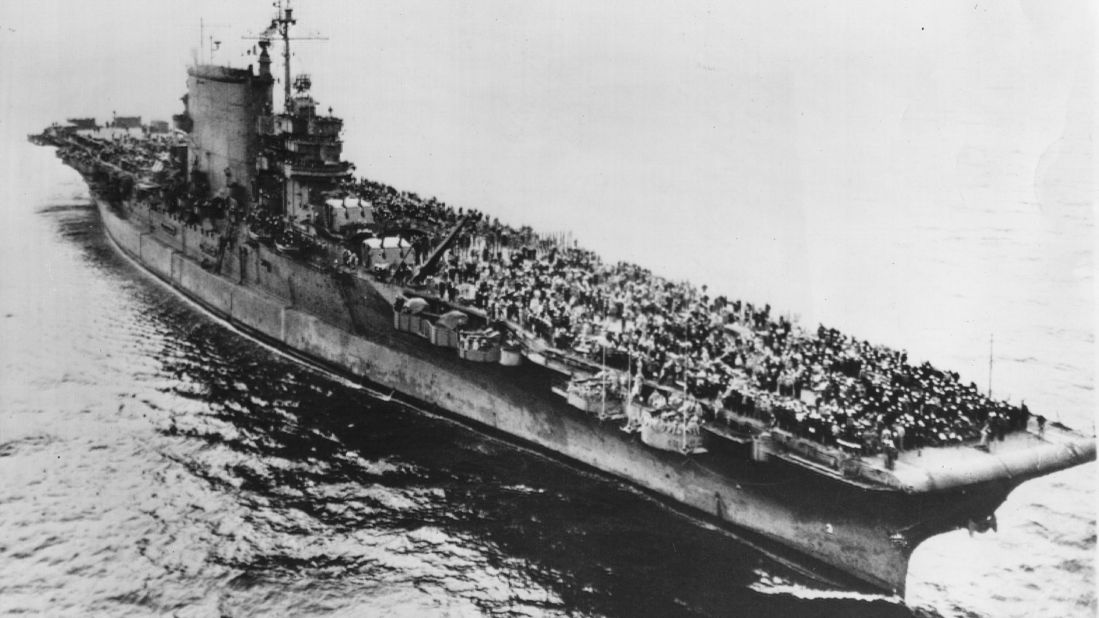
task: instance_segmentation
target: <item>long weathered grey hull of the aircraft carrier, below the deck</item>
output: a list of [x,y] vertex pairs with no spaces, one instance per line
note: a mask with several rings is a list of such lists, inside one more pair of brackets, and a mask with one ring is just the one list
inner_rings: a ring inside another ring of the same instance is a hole
[[367,280],[341,283],[243,236],[217,256],[214,273],[210,232],[145,208],[97,203],[119,251],[246,334],[413,407],[626,481],[828,583],[903,595],[921,541],[985,519],[1023,481],[909,494],[753,462],[732,445],[691,456],[654,450],[552,395],[559,376],[544,367],[467,363],[396,332],[388,302]]

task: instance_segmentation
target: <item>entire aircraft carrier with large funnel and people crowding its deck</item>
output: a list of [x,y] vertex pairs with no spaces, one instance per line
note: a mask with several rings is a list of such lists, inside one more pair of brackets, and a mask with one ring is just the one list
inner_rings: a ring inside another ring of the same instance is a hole
[[31,136],[123,253],[248,334],[898,594],[920,542],[1095,460],[1092,437],[902,352],[355,179],[342,120],[291,78],[295,21],[279,8],[258,67],[189,68],[173,128]]

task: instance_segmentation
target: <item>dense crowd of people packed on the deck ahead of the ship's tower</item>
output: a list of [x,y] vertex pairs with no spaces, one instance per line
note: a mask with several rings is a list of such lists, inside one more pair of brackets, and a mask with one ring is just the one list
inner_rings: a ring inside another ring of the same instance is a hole
[[[445,229],[463,211],[359,181],[385,218]],[[560,238],[480,217],[429,282],[444,300],[484,310],[553,347],[629,373],[633,400],[686,391],[703,420],[744,418],[821,444],[886,452],[1002,439],[1024,429],[1025,405],[991,400],[976,385],[904,352],[786,317],[707,286],[606,264]],[[663,402],[663,401],[662,401]],[[733,413],[729,413],[733,412]],[[693,422],[685,418],[684,422]]]

